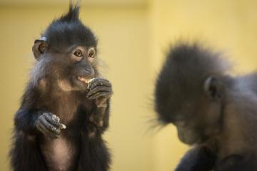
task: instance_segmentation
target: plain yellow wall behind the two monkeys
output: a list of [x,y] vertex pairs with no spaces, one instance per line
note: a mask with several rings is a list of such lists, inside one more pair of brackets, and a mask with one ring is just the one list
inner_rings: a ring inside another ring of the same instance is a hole
[[[156,131],[153,86],[168,45],[200,39],[225,51],[236,73],[257,66],[255,0],[82,0],[81,20],[99,38],[103,73],[114,86],[111,127],[105,133],[112,171],[173,170],[188,149],[172,125]],[[68,10],[66,0],[0,0],[0,170],[13,117],[34,63],[34,39]]]

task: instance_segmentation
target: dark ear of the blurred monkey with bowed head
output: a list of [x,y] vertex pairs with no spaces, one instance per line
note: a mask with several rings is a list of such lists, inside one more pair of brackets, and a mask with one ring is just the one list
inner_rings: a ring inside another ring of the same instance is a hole
[[222,84],[221,81],[213,76],[209,76],[204,81],[204,91],[213,100],[220,100],[222,98]]

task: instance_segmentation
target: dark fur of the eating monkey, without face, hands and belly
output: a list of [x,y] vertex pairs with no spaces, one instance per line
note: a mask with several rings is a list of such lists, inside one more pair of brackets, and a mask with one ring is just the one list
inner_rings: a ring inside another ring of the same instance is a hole
[[[50,112],[58,115],[61,123],[67,126],[66,130],[62,130],[62,136],[76,149],[76,155],[70,161],[72,170],[109,170],[110,154],[101,137],[109,126],[109,100],[103,113],[104,124],[99,126],[89,120],[98,110],[94,100],[86,98],[86,91],[71,90],[67,93],[56,85],[57,78],[69,79],[69,74],[74,71],[65,56],[67,48],[74,45],[96,47],[94,33],[79,20],[79,6],[71,5],[69,13],[54,20],[42,36],[47,38],[49,48],[31,71],[31,80],[14,118],[11,169],[49,170],[46,166],[47,156],[42,151],[45,147],[41,146],[44,135],[36,130],[35,123],[43,112]],[[97,63],[94,62],[93,68],[97,77],[99,73],[96,67]],[[89,137],[92,131],[95,135]]]

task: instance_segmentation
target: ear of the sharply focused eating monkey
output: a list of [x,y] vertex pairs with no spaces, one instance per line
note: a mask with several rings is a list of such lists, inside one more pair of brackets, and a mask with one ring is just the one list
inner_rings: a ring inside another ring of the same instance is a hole
[[48,48],[48,45],[46,43],[46,37],[41,37],[34,41],[34,46],[32,46],[32,51],[36,60],[39,60],[39,56],[41,56],[41,54],[43,54],[47,48]]

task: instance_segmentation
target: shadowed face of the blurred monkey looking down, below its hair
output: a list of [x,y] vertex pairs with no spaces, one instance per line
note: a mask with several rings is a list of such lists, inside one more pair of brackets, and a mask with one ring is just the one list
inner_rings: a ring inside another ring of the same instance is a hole
[[[221,104],[203,97],[182,101],[178,108],[167,108],[169,115],[161,119],[169,120],[176,126],[178,138],[188,145],[206,142],[220,130]],[[167,106],[168,107],[168,106]]]

